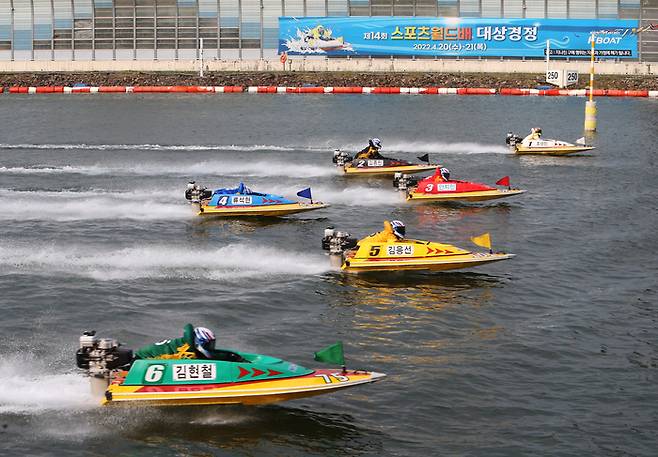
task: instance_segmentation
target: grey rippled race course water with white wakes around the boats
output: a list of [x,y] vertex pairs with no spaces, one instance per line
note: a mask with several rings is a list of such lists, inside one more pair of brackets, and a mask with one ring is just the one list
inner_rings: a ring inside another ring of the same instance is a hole
[[[0,455],[654,456],[658,101],[601,99],[598,146],[518,157],[505,134],[582,136],[584,100],[362,95],[1,96]],[[499,203],[409,205],[332,150],[379,137]],[[200,219],[187,181],[327,209]],[[295,197],[296,198],[296,197]],[[320,246],[400,219],[412,238],[509,261],[348,275]],[[382,382],[263,407],[100,408],[84,330],[131,348],[185,323],[307,367],[337,340]]]

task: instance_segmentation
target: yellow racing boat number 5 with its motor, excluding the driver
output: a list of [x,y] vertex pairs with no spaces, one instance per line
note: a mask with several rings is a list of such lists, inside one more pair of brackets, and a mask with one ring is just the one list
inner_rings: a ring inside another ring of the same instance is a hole
[[[487,239],[488,239],[488,234]],[[323,248],[339,255],[341,270],[347,272],[429,270],[447,271],[476,267],[514,257],[504,252],[471,252],[456,246],[413,239],[360,241],[348,233],[325,230]],[[475,240],[475,239],[474,239]]]

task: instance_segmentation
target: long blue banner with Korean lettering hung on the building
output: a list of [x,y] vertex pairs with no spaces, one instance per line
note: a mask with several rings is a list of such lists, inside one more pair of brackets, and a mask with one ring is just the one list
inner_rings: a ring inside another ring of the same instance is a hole
[[637,57],[636,20],[280,17],[279,53],[328,56]]

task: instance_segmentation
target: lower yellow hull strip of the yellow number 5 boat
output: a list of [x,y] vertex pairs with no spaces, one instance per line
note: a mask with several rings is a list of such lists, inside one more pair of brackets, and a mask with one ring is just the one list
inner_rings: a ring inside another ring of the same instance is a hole
[[514,257],[505,253],[468,253],[418,258],[345,259],[341,269],[347,272],[428,270],[449,271],[476,267]]

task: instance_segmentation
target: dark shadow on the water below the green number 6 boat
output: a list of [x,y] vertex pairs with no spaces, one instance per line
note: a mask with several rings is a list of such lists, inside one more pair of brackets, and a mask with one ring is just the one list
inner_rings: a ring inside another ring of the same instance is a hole
[[125,436],[135,441],[170,442],[173,438],[236,450],[284,446],[302,454],[336,448],[353,455],[380,452],[384,435],[354,422],[348,414],[276,405],[220,406],[149,409],[131,415],[122,428]]

